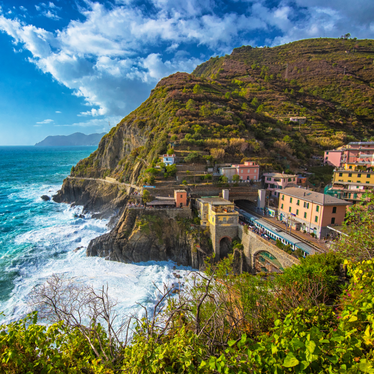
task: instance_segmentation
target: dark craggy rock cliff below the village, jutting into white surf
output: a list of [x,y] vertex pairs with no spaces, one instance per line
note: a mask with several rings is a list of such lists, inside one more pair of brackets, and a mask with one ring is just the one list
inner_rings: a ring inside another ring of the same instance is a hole
[[105,257],[119,262],[172,260],[202,270],[209,250],[196,248],[196,233],[190,225],[161,212],[126,209],[117,226],[107,234],[91,240],[87,256]]

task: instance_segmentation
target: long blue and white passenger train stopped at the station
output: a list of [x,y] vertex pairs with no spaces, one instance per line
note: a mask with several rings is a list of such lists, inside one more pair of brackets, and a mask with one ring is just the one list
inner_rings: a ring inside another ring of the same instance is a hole
[[286,234],[284,231],[278,229],[277,227],[273,226],[271,223],[266,222],[265,220],[253,216],[252,214],[244,211],[243,209],[236,208],[236,211],[239,212],[239,219],[244,222],[248,223],[251,226],[255,226],[259,229],[264,229],[266,235],[270,237],[270,239],[276,241],[276,239],[280,240],[285,245],[290,245],[291,249],[295,251],[296,249],[300,249],[303,252],[303,256],[309,256],[315,254],[315,249],[309,246],[308,244],[296,239],[295,237]]

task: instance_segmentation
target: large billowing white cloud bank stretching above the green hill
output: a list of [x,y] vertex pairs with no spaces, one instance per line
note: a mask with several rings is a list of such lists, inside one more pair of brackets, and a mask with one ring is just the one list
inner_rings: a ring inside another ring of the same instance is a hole
[[[202,57],[189,54],[190,46],[203,47],[210,56],[253,44],[259,33],[261,40],[269,36],[268,45],[323,33],[374,35],[372,20],[367,21],[374,12],[373,1],[357,0],[359,6],[355,6],[352,0],[282,0],[270,6],[264,0],[235,0],[242,5],[242,14],[232,11],[230,2],[150,1],[152,13],[132,0],[116,0],[111,7],[84,0],[78,7],[83,17],[55,32],[0,13],[0,30],[30,51],[29,60],[42,72],[84,98],[90,108],[79,116],[92,119],[123,117],[144,101],[159,78],[176,71],[191,72]],[[360,6],[366,15],[357,10]],[[52,1],[39,3],[36,9],[40,15],[59,19],[61,8]],[[165,58],[165,53],[174,56]],[[82,123],[89,122],[76,125]]]

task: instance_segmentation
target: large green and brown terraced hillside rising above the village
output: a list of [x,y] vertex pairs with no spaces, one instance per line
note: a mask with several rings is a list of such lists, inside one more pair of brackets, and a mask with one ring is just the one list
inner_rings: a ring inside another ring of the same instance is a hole
[[[191,75],[161,79],[72,175],[143,182],[169,143],[186,149],[187,162],[250,158],[264,169],[296,169],[323,149],[373,138],[372,43],[326,38],[243,46]],[[291,116],[307,121],[298,125]]]

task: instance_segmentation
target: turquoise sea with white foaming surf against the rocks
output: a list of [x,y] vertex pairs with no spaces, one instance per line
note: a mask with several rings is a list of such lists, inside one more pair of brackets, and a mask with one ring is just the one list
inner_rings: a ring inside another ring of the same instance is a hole
[[108,232],[106,219],[79,218],[81,206],[58,204],[52,197],[73,165],[97,147],[0,146],[0,316],[1,323],[30,313],[31,290],[53,274],[100,289],[118,300],[118,315],[152,308],[156,286],[176,282],[190,269],[171,261],[124,264],[86,257],[90,240]]

